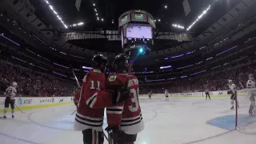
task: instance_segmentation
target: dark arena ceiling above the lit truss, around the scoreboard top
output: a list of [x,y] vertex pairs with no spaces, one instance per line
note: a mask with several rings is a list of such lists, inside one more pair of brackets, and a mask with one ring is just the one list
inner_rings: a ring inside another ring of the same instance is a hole
[[[43,0],[30,1],[34,4],[36,8],[35,13],[38,16],[44,18],[54,28],[64,28]],[[54,9],[66,23],[66,26],[78,22],[85,23],[83,26],[69,27],[69,30],[95,30],[98,28],[118,30],[118,17],[122,13],[127,10],[146,10],[157,20],[157,29],[184,32],[186,30],[175,29],[172,24],[177,23],[188,27],[207,6],[214,6],[209,11],[208,16],[191,29],[192,31],[202,32],[202,30],[216,22],[227,10],[230,10],[241,0],[189,0],[191,11],[187,16],[182,6],[182,0],[82,0],[79,11],[75,6],[76,0],[49,0],[48,2],[50,2],[51,6],[54,6]],[[99,21],[97,17],[100,19]],[[161,22],[158,22],[158,19]]]

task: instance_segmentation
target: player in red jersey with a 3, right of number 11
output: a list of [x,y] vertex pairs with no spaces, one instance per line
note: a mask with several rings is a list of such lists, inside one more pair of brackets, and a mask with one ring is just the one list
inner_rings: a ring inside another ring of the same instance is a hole
[[[133,144],[137,134],[144,129],[142,111],[138,102],[138,78],[128,74],[128,58],[120,54],[114,60],[114,69],[117,74],[106,79],[106,89],[116,89],[127,86],[129,97],[106,109],[110,144]],[[114,98],[115,99],[115,98]],[[119,99],[119,95],[116,98]]]

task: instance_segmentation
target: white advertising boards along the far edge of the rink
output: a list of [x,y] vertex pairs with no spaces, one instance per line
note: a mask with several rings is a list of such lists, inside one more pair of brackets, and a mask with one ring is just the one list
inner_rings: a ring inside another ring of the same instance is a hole
[[[245,96],[246,90],[238,90],[238,96]],[[169,98],[200,98],[204,97],[204,92],[194,92],[194,93],[170,93]],[[227,97],[226,90],[221,91],[210,91],[210,97]],[[161,99],[165,98],[165,94],[152,94],[151,98]],[[140,94],[139,99],[148,99],[148,94]],[[15,98],[15,104],[22,110],[38,109],[49,106],[61,106],[66,104],[72,104],[73,97],[17,97]],[[4,108],[5,97],[0,97],[0,110]],[[17,109],[17,107],[15,107]]]

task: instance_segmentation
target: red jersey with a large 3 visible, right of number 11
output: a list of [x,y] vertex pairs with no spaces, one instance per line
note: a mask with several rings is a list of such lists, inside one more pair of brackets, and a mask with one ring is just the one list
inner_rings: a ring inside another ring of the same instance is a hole
[[107,78],[106,89],[126,86],[130,89],[130,98],[106,109],[107,123],[110,127],[118,126],[126,134],[138,134],[144,129],[142,111],[138,102],[138,78],[133,74],[114,74]]

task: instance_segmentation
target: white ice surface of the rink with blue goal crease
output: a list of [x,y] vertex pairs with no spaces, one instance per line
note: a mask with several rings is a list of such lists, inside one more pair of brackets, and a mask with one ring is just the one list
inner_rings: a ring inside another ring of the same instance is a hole
[[[239,116],[246,130],[255,130],[256,118],[248,118],[250,102],[239,97]],[[145,130],[136,144],[255,144],[255,134],[234,129],[230,98],[154,98],[140,101]],[[0,119],[1,144],[82,144],[82,133],[73,130],[73,105],[53,106],[10,114]],[[106,126],[106,125],[105,125]],[[106,134],[106,132],[105,132]],[[105,142],[104,143],[108,143]]]

